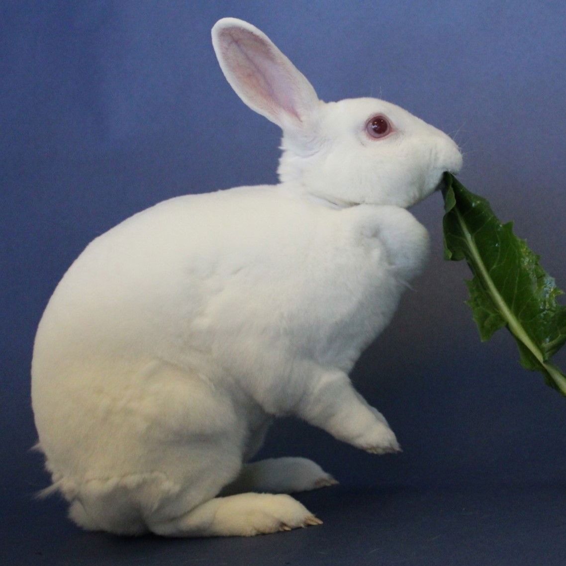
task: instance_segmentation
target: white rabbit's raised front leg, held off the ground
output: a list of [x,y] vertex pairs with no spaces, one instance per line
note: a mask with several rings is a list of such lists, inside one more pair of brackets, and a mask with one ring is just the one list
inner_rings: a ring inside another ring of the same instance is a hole
[[383,415],[355,391],[343,372],[328,372],[312,380],[295,414],[366,452],[401,450]]

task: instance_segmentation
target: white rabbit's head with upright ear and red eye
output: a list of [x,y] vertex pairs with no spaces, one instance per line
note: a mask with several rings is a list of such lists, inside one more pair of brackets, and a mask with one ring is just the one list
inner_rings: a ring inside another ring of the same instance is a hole
[[462,156],[446,134],[376,98],[325,103],[254,26],[219,20],[212,41],[242,100],[283,130],[278,174],[289,190],[338,206],[409,207],[430,195]]

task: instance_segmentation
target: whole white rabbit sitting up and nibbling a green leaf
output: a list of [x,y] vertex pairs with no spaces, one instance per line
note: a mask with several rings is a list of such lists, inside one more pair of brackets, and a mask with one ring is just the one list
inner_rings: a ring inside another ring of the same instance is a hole
[[[247,464],[295,415],[398,450],[348,372],[427,256],[405,210],[456,144],[374,98],[325,104],[258,29],[212,29],[242,100],[281,126],[275,186],[166,200],[96,238],[39,325],[32,401],[53,486],[85,529],[253,535],[319,524],[285,495],[335,483],[306,458]],[[265,493],[272,492],[272,493]]]

